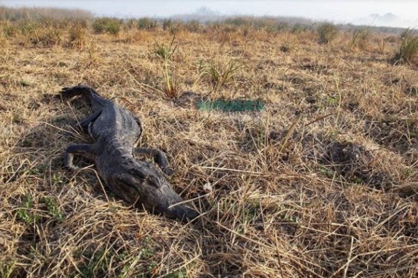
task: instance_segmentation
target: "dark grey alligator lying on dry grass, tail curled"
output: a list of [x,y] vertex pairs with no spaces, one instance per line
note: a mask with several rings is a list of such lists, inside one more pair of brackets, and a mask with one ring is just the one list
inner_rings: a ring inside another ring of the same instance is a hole
[[[75,96],[86,97],[91,104],[93,113],[80,122],[80,126],[94,142],[68,146],[64,159],[66,167],[79,169],[73,163],[75,154],[90,158],[105,185],[125,202],[181,221],[199,215],[167,181],[166,174],[173,174],[173,170],[164,152],[137,147],[143,130],[139,117],[100,97],[86,85],[61,90],[63,99]],[[154,163],[140,160],[137,155],[152,156]]]

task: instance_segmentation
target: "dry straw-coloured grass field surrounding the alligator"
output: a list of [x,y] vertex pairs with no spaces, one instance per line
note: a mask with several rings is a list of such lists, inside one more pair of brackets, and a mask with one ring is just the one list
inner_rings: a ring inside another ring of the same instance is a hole
[[[417,57],[394,60],[398,35],[84,16],[1,22],[1,277],[417,277]],[[141,117],[196,222],[63,167],[90,140],[88,107],[55,97],[77,83]]]

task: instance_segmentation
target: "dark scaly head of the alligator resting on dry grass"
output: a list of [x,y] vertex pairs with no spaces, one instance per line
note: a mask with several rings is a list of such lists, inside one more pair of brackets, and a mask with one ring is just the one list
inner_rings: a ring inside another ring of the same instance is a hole
[[192,220],[199,215],[185,204],[164,174],[147,161],[134,161],[128,169],[114,174],[109,187],[130,204],[162,213],[176,220]]

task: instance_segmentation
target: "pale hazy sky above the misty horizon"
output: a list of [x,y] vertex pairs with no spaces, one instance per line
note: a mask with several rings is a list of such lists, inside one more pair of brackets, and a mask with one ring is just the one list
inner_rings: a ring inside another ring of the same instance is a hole
[[412,0],[0,0],[0,5],[83,8],[95,15],[118,17],[170,17],[206,7],[221,15],[294,16],[334,23],[418,27],[418,1]]

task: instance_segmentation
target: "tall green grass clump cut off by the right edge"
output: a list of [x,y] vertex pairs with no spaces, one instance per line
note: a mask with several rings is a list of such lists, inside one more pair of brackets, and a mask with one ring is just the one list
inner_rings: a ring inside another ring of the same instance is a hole
[[409,28],[401,34],[401,45],[395,52],[395,63],[412,63],[418,54],[418,34]]

